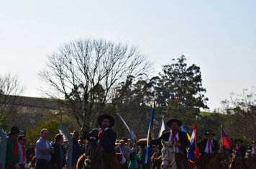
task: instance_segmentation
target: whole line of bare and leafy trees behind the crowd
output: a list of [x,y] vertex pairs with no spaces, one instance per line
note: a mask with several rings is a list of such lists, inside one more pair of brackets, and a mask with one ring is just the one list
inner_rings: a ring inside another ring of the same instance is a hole
[[[83,94],[88,93],[86,130],[97,127],[96,120],[100,115],[109,114],[116,120],[114,130],[119,135],[126,135],[126,127],[116,115],[119,113],[134,132],[145,137],[152,100],[156,97],[155,120],[159,122],[163,115],[166,121],[178,118],[188,132],[191,132],[195,117],[198,116],[200,135],[206,130],[214,130],[216,137],[220,139],[218,131],[220,125],[224,125],[224,130],[230,137],[244,137],[248,143],[255,139],[254,88],[249,94],[244,90],[235,99],[232,95],[231,100],[222,101],[223,107],[214,110],[209,116],[202,116],[201,110],[209,110],[209,99],[205,97],[206,88],[202,84],[200,67],[196,64],[188,66],[184,55],[163,65],[162,71],[155,77],[151,76],[154,72],[152,67],[153,63],[137,47],[89,38],[63,44],[57,52],[47,56],[45,68],[37,75],[45,83],[45,88],[40,89],[40,92],[44,97],[54,100],[55,107],[58,108],[58,115],[52,112],[49,114],[64,125],[69,117],[71,123],[81,127]],[[4,124],[3,120],[12,117],[15,112],[7,111],[4,105],[8,104],[2,101],[8,93],[2,79],[3,77],[0,80],[1,126]],[[19,88],[18,85],[17,87]],[[9,123],[12,123],[12,119]],[[65,126],[72,129],[72,125]]]

